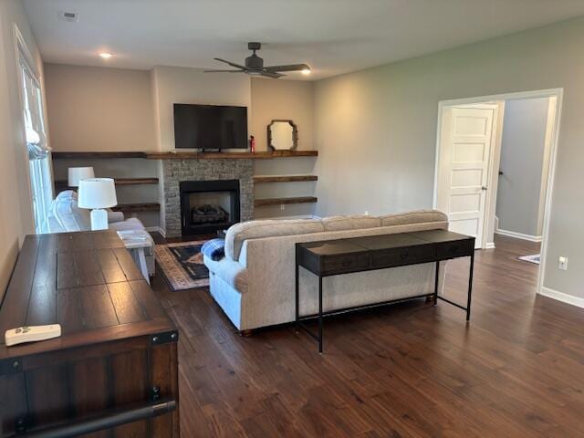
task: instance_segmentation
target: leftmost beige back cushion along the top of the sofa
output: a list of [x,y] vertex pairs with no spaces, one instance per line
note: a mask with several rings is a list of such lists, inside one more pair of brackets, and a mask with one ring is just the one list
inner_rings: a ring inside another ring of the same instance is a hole
[[225,235],[225,255],[238,260],[241,246],[247,239],[275,237],[278,235],[306,235],[324,231],[318,219],[287,219],[249,221],[235,224]]

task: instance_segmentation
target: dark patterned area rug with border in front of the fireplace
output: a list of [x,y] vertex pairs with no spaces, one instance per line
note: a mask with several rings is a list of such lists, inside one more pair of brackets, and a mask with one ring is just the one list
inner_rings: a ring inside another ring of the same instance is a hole
[[201,246],[206,240],[156,245],[156,261],[172,291],[209,286]]

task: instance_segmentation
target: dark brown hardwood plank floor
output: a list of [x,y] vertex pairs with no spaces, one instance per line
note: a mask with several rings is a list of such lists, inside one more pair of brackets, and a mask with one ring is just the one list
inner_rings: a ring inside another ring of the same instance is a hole
[[[536,296],[537,244],[478,251],[471,322],[439,302],[329,319],[325,353],[292,327],[251,338],[206,290],[153,283],[179,325],[183,437],[584,436],[584,310]],[[446,292],[464,298],[466,260]]]

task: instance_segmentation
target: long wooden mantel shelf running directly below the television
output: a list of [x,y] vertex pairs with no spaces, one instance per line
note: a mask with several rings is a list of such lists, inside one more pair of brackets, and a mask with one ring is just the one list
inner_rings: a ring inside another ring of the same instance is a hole
[[271,160],[274,158],[318,157],[318,151],[263,151],[263,152],[175,152],[175,151],[136,151],[136,152],[53,152],[59,159],[114,159],[145,158],[147,160]]

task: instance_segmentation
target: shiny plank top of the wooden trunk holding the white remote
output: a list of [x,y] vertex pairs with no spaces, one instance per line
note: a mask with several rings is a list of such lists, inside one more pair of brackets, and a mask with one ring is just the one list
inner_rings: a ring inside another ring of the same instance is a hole
[[[5,347],[6,329],[62,336]],[[0,307],[0,360],[175,330],[113,231],[27,235]]]

